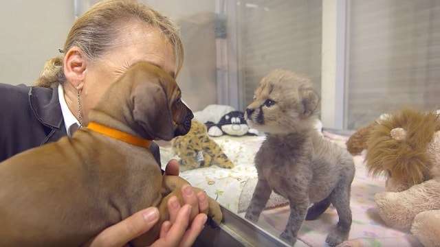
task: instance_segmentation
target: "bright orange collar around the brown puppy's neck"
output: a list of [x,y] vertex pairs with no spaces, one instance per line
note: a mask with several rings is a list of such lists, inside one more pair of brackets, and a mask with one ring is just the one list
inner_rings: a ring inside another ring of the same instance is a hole
[[104,134],[107,137],[111,137],[113,139],[117,139],[120,141],[124,141],[125,143],[129,143],[131,145],[136,145],[141,148],[150,148],[151,141],[147,139],[142,139],[139,137],[135,137],[132,134],[122,132],[120,130],[116,130],[114,128],[109,128],[107,126],[103,126],[102,124],[98,124],[96,122],[90,122],[87,125],[87,128],[98,132],[100,134]]

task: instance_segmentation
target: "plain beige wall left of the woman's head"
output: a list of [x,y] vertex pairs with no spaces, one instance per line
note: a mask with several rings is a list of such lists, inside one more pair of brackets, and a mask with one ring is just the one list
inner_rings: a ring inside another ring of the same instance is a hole
[[32,84],[74,21],[71,0],[1,1],[0,83]]

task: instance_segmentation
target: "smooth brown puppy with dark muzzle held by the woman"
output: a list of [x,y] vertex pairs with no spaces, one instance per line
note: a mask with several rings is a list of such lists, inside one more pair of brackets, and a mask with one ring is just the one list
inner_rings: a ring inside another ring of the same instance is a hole
[[[89,119],[142,139],[168,141],[190,128],[192,113],[180,97],[170,75],[140,62],[110,86]],[[156,206],[161,220],[133,242],[149,245],[168,219],[167,199],[181,200],[185,183],[162,177],[148,149],[81,128],[72,139],[0,163],[0,246],[79,246]],[[222,217],[212,199],[208,215],[216,222]]]

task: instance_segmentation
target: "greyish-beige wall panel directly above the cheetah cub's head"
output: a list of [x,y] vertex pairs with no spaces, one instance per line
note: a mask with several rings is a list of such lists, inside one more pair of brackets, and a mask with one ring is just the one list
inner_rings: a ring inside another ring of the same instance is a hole
[[241,1],[243,84],[245,104],[272,69],[288,69],[306,75],[320,91],[320,0]]

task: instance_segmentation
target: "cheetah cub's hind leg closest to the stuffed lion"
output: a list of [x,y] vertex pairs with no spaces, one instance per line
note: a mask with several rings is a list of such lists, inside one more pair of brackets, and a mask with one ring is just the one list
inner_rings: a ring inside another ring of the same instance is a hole
[[350,183],[341,181],[330,194],[331,204],[338,211],[339,222],[325,239],[329,246],[337,246],[349,238],[351,228],[350,186]]

